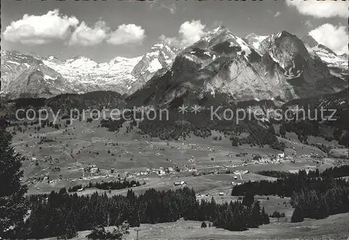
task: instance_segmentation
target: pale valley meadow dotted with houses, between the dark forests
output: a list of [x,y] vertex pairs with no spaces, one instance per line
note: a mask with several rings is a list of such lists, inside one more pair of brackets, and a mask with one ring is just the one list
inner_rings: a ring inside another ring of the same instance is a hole
[[[279,166],[283,169],[287,166],[290,172],[297,172],[299,169],[309,172],[317,167],[325,168],[339,162],[334,158],[327,158],[315,148],[306,154],[304,145],[297,142],[292,143],[290,149],[283,152],[273,149],[269,150],[270,153],[258,149],[241,151],[239,148],[232,151],[224,139],[218,142],[214,140],[202,142],[194,136],[197,141],[151,142],[148,139],[140,142],[140,136],[135,133],[122,132],[126,127],[117,133],[121,136],[120,139],[99,128],[97,123],[83,123],[82,126],[79,126],[80,122],[74,124],[59,131],[51,131],[49,128],[39,130],[29,124],[24,134],[17,133],[14,136],[18,141],[15,144],[17,148],[28,149],[25,155],[24,175],[31,193],[43,190],[49,193],[61,186],[69,187],[77,184],[83,186],[89,181],[122,179],[146,183],[147,188],[151,188],[153,183],[159,184],[159,181],[167,188],[194,187],[191,186],[191,181],[186,179],[221,174],[230,177],[225,179],[223,184],[232,187],[244,181],[258,180],[253,178],[253,172],[258,172],[263,167]],[[82,140],[85,139],[84,134],[95,137],[92,140]],[[61,140],[58,142],[55,136],[59,135]],[[106,137],[108,135],[110,137]],[[196,143],[200,141],[201,144]],[[207,146],[211,142],[214,144]],[[299,148],[301,153],[297,153],[295,147]],[[156,158],[156,164],[142,163],[138,160],[140,156]],[[79,189],[79,192],[84,193],[84,189]],[[208,194],[198,193],[198,196]],[[230,190],[224,194],[230,195]]]

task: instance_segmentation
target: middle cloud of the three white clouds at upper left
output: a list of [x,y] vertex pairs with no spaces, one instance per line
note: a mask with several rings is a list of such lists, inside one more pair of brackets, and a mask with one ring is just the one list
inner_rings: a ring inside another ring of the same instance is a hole
[[85,22],[82,22],[73,32],[69,45],[93,46],[107,38],[109,27],[104,21],[98,21],[94,27],[89,27]]

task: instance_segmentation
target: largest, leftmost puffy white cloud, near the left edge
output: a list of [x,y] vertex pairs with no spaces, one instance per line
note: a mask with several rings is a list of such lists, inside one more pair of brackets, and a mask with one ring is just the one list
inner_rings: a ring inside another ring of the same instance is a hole
[[29,45],[50,43],[54,39],[65,39],[77,24],[76,17],[61,15],[58,9],[40,16],[26,14],[6,27],[3,38]]

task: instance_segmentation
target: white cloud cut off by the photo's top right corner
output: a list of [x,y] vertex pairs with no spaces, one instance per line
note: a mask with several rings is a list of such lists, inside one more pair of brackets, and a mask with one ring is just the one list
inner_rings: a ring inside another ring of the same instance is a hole
[[349,17],[348,1],[286,0],[288,6],[297,8],[303,15],[313,17]]

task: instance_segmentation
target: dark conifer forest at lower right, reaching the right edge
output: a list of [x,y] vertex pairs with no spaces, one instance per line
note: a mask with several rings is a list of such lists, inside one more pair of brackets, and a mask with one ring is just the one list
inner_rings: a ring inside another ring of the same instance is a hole
[[[346,166],[343,166],[346,170]],[[298,173],[262,172],[271,177],[280,177],[276,181],[257,181],[243,183],[232,188],[232,195],[279,195],[291,197],[292,222],[302,222],[304,218],[326,218],[337,213],[349,212],[349,182],[345,179],[334,179],[333,168],[319,173],[305,170]]]

